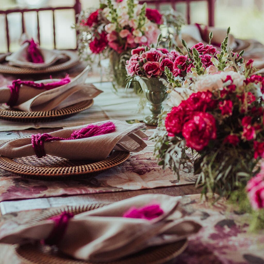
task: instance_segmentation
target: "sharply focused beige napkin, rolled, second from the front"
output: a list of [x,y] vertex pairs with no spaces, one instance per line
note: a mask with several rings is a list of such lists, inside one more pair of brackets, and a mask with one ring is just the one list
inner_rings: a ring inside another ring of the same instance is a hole
[[[142,138],[146,138],[147,135],[139,130],[145,128],[145,124],[130,125],[119,120],[108,120],[94,124],[99,125],[109,121],[113,122],[116,126],[114,132],[83,139],[45,142],[45,153],[70,160],[84,159],[100,161],[107,158],[112,149],[139,152],[147,146],[144,140],[142,140]],[[82,129],[86,126],[87,125],[61,129],[49,133],[49,135],[69,138],[73,131]],[[31,144],[31,138],[18,138],[4,144],[0,148],[0,155],[10,158],[35,155]]]

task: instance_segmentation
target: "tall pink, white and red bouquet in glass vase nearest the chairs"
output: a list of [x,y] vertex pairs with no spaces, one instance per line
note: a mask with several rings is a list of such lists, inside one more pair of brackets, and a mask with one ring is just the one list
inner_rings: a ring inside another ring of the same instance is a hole
[[166,39],[174,39],[183,24],[180,14],[162,14],[137,0],[101,0],[99,9],[82,12],[79,17],[79,54],[88,62],[98,54],[109,57],[114,85],[125,87],[125,62],[131,49],[157,43],[161,31]]

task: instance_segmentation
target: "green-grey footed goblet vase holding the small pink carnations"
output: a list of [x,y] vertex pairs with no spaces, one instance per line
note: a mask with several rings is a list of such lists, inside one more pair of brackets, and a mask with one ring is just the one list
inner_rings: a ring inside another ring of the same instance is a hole
[[149,101],[149,109],[152,112],[151,115],[144,119],[144,122],[150,126],[157,126],[158,115],[163,109],[162,102],[168,95],[166,88],[158,78],[137,78],[137,81],[140,83],[142,91]]

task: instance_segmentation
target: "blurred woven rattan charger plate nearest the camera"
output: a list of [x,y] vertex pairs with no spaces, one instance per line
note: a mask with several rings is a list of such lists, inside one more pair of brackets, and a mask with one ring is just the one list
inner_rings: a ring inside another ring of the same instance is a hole
[[[80,214],[89,210],[102,207],[106,204],[90,204],[88,206],[61,208],[52,212],[43,213],[39,218],[32,219],[30,224],[37,221],[48,219],[51,216],[61,214],[63,211],[68,211],[73,214]],[[187,247],[187,240],[181,240],[175,243],[152,247],[145,249],[139,253],[122,258],[117,261],[108,262],[108,264],[161,264],[169,263],[180,255]],[[24,245],[16,248],[17,255],[27,264],[94,264],[93,262],[86,262],[81,260],[74,260],[59,252],[51,251],[49,247],[41,245]]]

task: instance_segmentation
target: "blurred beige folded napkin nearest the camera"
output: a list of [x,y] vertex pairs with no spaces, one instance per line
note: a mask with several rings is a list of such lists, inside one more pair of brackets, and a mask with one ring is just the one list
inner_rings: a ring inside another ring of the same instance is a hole
[[[201,225],[184,219],[181,197],[144,194],[75,215],[58,244],[63,253],[81,260],[109,262],[151,246],[168,244],[197,233]],[[131,207],[159,204],[163,214],[152,220],[124,218]],[[46,239],[53,220],[21,226],[0,237],[1,243],[23,244]]]

